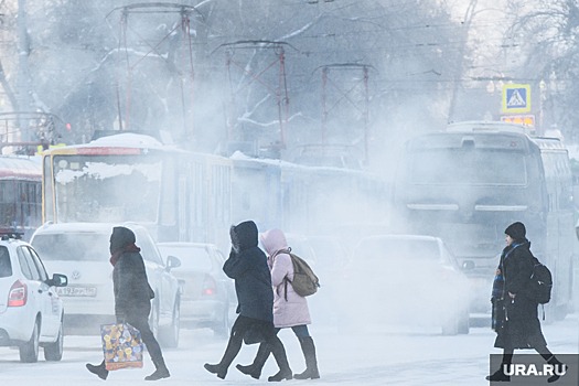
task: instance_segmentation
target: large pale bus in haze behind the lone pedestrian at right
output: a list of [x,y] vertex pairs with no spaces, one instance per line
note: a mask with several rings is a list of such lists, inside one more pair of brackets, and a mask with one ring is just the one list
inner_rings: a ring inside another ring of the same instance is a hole
[[554,275],[547,314],[572,305],[573,206],[569,157],[559,139],[522,126],[461,122],[406,143],[394,205],[405,232],[441,237],[471,277],[471,312],[487,313],[504,229],[519,221],[530,250]]

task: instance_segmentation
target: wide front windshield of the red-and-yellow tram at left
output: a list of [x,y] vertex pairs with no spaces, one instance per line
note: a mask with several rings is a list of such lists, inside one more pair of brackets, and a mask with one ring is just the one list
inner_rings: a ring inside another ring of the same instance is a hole
[[58,221],[156,222],[161,168],[150,156],[55,156]]

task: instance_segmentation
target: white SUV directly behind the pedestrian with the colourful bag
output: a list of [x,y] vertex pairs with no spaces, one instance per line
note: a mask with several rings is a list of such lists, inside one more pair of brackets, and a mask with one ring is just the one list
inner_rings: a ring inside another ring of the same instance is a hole
[[109,239],[112,227],[122,225],[135,232],[137,246],[154,290],[150,317],[151,330],[160,344],[179,344],[181,290],[171,269],[176,258],[164,261],[144,226],[133,223],[45,224],[34,232],[31,244],[51,270],[65,272],[71,282],[58,290],[67,310],[65,333],[98,333],[100,324],[115,322],[112,266]]

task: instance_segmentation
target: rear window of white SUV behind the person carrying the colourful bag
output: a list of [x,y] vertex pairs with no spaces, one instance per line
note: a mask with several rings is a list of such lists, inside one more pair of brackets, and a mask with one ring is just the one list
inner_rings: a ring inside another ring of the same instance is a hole
[[43,260],[107,261],[110,257],[109,237],[105,234],[36,235],[32,246]]

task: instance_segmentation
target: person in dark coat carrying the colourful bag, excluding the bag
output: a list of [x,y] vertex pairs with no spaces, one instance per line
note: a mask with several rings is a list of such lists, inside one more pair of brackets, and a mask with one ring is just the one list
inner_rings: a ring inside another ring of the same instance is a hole
[[[151,299],[154,292],[147,279],[140,248],[135,245],[135,233],[129,228],[116,226],[110,235],[110,264],[112,265],[112,290],[115,293],[115,315],[117,323],[129,323],[140,331],[141,339],[156,366],[154,373],[146,380],[169,378],[170,373],[163,360],[161,347],[149,326]],[[90,373],[106,379],[108,371],[105,361],[99,365],[86,364]]]

